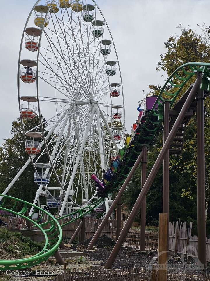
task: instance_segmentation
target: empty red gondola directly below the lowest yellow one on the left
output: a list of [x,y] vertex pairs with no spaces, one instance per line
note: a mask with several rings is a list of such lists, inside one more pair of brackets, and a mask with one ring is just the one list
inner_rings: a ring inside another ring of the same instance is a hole
[[38,51],[39,37],[41,35],[41,30],[35,27],[29,27],[25,30],[25,47],[31,52]]

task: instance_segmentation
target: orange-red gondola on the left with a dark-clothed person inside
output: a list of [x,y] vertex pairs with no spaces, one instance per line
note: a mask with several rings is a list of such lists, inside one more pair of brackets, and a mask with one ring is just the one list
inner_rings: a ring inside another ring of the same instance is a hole
[[36,70],[32,69],[31,67],[37,66],[37,62],[30,59],[24,59],[20,61],[20,64],[25,66],[20,70],[21,81],[27,84],[34,83],[36,80]]

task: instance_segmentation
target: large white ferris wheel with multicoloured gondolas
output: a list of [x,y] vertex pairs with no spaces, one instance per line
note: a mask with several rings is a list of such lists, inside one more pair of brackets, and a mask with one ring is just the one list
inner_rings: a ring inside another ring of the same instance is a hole
[[[31,163],[34,204],[45,196],[63,215],[94,203],[91,175],[102,178],[122,147],[125,124],[118,56],[95,1],[36,1],[20,45],[18,98],[29,160],[5,193]],[[23,119],[36,115],[40,124],[25,131]]]

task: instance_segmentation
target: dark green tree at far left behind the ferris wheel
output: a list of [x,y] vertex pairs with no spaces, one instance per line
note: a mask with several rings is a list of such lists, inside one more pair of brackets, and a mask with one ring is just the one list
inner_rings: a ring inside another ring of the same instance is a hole
[[[45,121],[43,117],[42,121]],[[24,119],[23,122],[25,131],[29,131],[31,128],[40,124],[38,116],[32,120]],[[45,127],[46,125],[47,124],[45,124]],[[38,129],[36,131],[38,131]],[[20,118],[12,122],[10,133],[12,137],[6,138],[3,145],[0,146],[0,192],[6,189],[29,158],[29,155],[24,150],[25,141]],[[42,150],[43,149],[44,146],[42,147]],[[46,154],[41,157],[40,162],[48,163]],[[33,203],[37,187],[38,186],[34,183],[34,168],[29,164],[7,195]]]

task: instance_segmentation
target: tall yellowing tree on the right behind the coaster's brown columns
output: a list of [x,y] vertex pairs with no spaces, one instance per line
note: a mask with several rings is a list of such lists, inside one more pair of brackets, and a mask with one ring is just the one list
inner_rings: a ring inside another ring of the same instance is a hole
[[[190,61],[209,62],[210,57],[210,27],[205,24],[198,27],[202,34],[195,33],[191,28],[178,27],[180,36],[171,35],[166,43],[167,49],[160,56],[157,71],[165,71],[170,76],[180,65]],[[174,81],[176,82],[176,81]],[[188,82],[180,95],[192,84]],[[160,85],[149,85],[148,95],[159,94]],[[210,106],[209,98],[205,101],[205,154],[206,154],[206,224],[207,233],[210,230],[209,199],[209,137],[210,137]],[[162,132],[157,136],[156,142],[148,152],[148,173],[150,172],[157,156],[162,148]],[[194,231],[197,223],[197,164],[196,164],[196,116],[188,123],[185,134],[183,153],[175,157],[170,156],[170,221],[178,218],[187,222],[194,222]],[[129,208],[132,208],[136,197],[141,191],[141,169],[139,168],[130,182],[124,195]],[[162,166],[148,191],[146,216],[147,223],[157,222],[158,213],[162,212]],[[150,218],[150,220],[148,219]],[[196,234],[196,232],[195,232]]]

